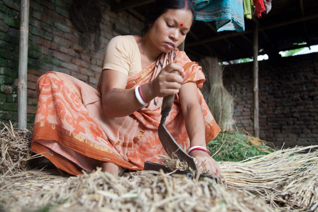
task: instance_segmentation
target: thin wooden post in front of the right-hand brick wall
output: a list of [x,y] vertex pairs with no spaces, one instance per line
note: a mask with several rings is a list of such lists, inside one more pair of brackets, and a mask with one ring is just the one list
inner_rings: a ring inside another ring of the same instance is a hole
[[258,28],[257,21],[254,22],[254,40],[253,40],[253,78],[254,78],[254,136],[259,137],[259,87],[258,87]]

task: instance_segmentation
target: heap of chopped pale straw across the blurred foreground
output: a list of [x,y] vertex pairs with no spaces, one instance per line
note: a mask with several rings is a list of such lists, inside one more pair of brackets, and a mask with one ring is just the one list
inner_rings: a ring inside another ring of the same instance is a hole
[[0,203],[8,211],[273,211],[262,197],[209,178],[139,173],[142,177],[117,177],[98,169],[66,181],[54,180],[57,176],[47,176],[46,183],[40,177],[15,179],[1,188]]

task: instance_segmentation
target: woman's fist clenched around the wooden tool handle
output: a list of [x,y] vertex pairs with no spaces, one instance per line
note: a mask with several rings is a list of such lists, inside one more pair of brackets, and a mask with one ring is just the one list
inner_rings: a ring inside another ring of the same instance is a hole
[[[180,75],[171,73],[173,70],[180,72]],[[184,69],[181,65],[169,63],[160,71],[158,76],[150,82],[154,96],[164,97],[178,93],[184,76]]]

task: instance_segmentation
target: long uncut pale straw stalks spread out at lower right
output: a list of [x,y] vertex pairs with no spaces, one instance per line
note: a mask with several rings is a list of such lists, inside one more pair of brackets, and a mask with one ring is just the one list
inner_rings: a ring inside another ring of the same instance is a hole
[[[318,197],[318,189],[314,187],[317,177],[313,177],[318,176],[317,148],[318,145],[294,147],[256,156],[247,162],[220,162],[220,181],[228,188],[262,195],[275,208],[308,211]],[[308,186],[309,182],[313,186]],[[310,190],[301,190],[304,186]],[[288,194],[295,196],[287,198]]]

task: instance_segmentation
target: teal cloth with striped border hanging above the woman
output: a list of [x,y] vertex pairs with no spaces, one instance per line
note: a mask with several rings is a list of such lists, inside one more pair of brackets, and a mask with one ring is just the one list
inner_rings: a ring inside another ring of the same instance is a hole
[[193,0],[196,20],[215,21],[217,31],[245,31],[243,0]]

